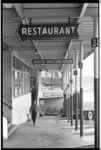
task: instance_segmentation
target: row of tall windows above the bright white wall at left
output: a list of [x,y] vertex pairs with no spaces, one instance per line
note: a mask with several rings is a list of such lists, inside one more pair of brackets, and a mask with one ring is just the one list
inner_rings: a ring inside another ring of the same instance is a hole
[[26,64],[13,57],[13,96],[30,92],[29,70]]

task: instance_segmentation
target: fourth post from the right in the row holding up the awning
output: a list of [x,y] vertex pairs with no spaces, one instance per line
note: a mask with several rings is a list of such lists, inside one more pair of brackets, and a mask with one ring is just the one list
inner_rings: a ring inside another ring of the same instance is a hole
[[70,103],[71,103],[71,126],[73,125],[73,64],[70,66]]

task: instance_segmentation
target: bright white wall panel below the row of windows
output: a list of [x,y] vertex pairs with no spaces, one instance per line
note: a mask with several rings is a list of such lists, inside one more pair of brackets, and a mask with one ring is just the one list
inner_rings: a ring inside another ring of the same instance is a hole
[[27,114],[31,106],[31,93],[12,99],[12,124],[21,124],[27,121]]

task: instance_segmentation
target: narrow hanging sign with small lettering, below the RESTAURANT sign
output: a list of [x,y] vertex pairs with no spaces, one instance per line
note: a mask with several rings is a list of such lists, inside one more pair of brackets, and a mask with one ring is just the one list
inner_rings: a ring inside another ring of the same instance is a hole
[[73,64],[73,59],[33,59],[33,64]]

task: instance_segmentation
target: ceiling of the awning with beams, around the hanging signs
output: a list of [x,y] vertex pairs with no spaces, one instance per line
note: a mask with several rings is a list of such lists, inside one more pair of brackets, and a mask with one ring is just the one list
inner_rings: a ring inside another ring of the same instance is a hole
[[[93,52],[93,18],[98,16],[98,3],[4,3],[2,11],[3,42],[12,47],[12,51],[17,51],[19,57],[32,68],[61,70],[66,65],[33,65],[32,60],[66,59],[68,53],[75,67],[75,51],[80,53],[80,41],[84,41],[84,59]],[[78,39],[26,41],[23,47],[15,33],[23,18],[26,18],[27,22],[31,18],[32,24],[67,24],[69,17],[77,19],[79,23]]]

